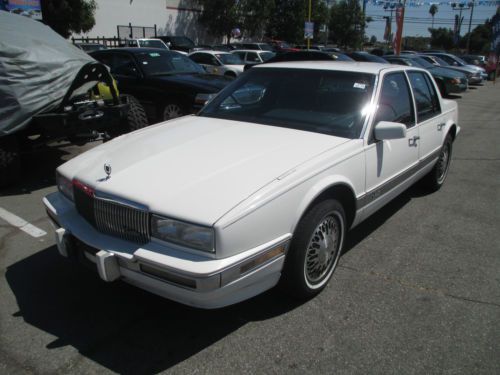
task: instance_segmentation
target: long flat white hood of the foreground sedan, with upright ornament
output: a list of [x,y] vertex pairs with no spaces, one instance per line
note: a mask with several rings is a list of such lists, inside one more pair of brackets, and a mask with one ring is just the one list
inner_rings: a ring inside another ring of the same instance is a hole
[[[58,171],[151,212],[212,225],[285,172],[348,141],[187,116],[121,136]],[[112,168],[108,179],[105,163]]]

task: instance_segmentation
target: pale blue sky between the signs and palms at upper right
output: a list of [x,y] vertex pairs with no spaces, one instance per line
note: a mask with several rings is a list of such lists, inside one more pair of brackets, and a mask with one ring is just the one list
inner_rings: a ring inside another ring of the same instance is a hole
[[[425,4],[424,4],[425,3]],[[451,3],[451,2],[450,2]],[[455,15],[460,12],[453,10],[450,3],[445,3],[443,1],[436,1],[435,4],[438,6],[438,12],[434,16],[434,27],[446,27],[453,29]],[[483,2],[481,5],[476,2],[474,6],[474,13],[472,15],[472,27],[479,24],[483,24],[488,18],[491,18],[496,12],[496,6],[489,6],[486,4],[491,4],[493,2]],[[415,3],[409,3],[414,5]],[[432,17],[429,14],[430,2],[429,0],[420,1],[420,6],[407,6],[405,10],[405,23],[403,27],[403,36],[430,36],[428,28],[431,27]],[[471,10],[462,10],[462,27],[460,30],[460,35],[464,36],[469,28]],[[385,20],[383,16],[389,16],[390,12],[385,11],[383,6],[377,6],[373,3],[368,3],[366,5],[366,15],[373,17],[373,21],[368,24],[366,28],[366,35],[371,37],[375,35],[377,40],[382,41],[384,39],[384,28]],[[392,30],[395,32],[395,14],[393,13]]]

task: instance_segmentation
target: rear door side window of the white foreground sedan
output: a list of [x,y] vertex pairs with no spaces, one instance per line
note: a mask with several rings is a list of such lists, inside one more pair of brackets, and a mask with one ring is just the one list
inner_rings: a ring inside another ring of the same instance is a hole
[[422,72],[409,72],[410,84],[417,103],[417,121],[423,122],[439,113],[439,99],[430,78]]

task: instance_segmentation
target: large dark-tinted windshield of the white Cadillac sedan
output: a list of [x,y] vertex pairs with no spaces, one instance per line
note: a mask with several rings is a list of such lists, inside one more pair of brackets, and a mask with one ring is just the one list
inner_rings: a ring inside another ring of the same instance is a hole
[[374,82],[368,73],[255,68],[199,115],[358,138]]

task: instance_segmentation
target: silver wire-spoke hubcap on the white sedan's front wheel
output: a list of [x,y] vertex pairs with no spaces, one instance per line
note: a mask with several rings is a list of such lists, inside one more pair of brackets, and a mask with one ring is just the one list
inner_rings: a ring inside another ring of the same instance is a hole
[[306,250],[304,271],[311,284],[317,284],[329,273],[340,243],[340,224],[333,215],[325,217],[316,227]]

